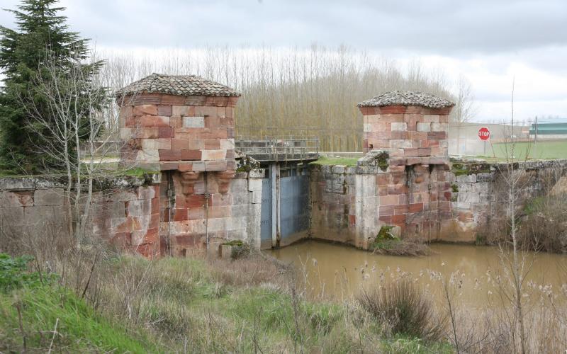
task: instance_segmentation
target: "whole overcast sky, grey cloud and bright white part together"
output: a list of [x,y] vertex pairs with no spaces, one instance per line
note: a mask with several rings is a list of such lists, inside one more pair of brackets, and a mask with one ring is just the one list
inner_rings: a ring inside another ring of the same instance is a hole
[[[1,7],[15,8],[16,0]],[[64,0],[97,47],[348,45],[471,81],[477,120],[567,118],[567,0]],[[11,13],[0,23],[13,27]]]

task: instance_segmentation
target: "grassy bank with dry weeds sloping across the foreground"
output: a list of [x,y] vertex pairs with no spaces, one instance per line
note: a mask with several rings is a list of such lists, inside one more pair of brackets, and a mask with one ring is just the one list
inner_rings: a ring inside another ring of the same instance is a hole
[[0,292],[0,351],[451,352],[391,335],[352,304],[308,301],[296,273],[264,256],[96,264],[88,286],[69,277]]

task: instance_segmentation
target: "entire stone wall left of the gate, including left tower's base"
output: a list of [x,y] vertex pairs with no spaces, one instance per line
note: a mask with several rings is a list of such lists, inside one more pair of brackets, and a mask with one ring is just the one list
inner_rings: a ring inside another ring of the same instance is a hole
[[[172,198],[167,173],[173,174]],[[106,188],[93,195],[89,234],[147,257],[203,251],[207,231],[212,253],[232,239],[259,247],[262,171],[228,181],[196,173],[189,182],[184,173],[167,173],[105,181]],[[57,229],[65,236],[65,193],[64,183],[47,178],[0,178],[1,231],[22,236]]]

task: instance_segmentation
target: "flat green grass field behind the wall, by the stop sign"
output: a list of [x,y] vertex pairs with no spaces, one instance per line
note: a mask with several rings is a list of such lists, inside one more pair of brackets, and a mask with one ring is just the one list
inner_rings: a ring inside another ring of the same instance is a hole
[[[506,159],[511,156],[510,144],[493,144],[493,157]],[[514,147],[515,159],[567,159],[567,140],[558,142],[517,142]]]

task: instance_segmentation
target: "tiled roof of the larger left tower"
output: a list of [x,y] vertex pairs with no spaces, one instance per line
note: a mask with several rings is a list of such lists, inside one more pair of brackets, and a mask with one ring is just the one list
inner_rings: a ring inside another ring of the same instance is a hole
[[240,93],[215,81],[196,75],[151,74],[117,91],[116,96],[137,93],[164,93],[174,96],[240,96]]

